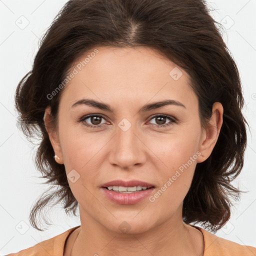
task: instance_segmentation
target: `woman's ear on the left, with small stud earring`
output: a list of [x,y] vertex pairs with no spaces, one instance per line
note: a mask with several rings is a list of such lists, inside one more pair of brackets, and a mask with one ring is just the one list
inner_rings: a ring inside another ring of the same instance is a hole
[[[47,106],[45,108],[44,117],[43,117],[44,125],[45,125],[47,133],[49,135],[50,143],[53,147],[54,153],[55,153],[55,155],[57,155],[59,157],[59,159],[56,157],[55,160],[57,163],[62,164],[63,156],[62,156],[61,147],[60,147],[60,143],[59,143],[58,133],[52,126],[52,115],[50,113],[51,113],[51,108],[50,108],[50,106]],[[52,155],[52,157],[53,157],[53,155]]]

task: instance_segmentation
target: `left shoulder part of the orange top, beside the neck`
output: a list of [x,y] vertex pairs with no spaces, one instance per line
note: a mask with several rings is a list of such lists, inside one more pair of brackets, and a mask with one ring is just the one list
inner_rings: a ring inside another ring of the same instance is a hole
[[10,253],[5,256],[62,256],[66,238],[77,227],[79,226],[72,227],[61,234],[36,243],[29,248],[22,249],[18,252]]

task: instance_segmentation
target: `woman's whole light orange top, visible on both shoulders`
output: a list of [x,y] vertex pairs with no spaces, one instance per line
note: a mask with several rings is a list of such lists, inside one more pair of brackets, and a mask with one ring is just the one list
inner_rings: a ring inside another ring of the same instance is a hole
[[[201,231],[204,241],[203,256],[256,256],[256,247],[239,243],[216,236],[209,231],[189,224]],[[72,227],[52,238],[41,241],[32,247],[20,250],[6,256],[63,256],[64,245],[68,235],[79,226]]]

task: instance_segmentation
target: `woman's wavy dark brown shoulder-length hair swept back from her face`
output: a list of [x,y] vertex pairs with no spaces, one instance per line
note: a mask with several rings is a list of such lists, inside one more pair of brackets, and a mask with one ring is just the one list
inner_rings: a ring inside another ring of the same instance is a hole
[[[203,0],[69,0],[41,39],[32,69],[19,82],[15,105],[19,123],[28,139],[40,137],[36,167],[57,185],[54,192],[36,201],[29,221],[53,199],[63,202],[66,213],[75,214],[77,201],[67,182],[63,164],[55,162],[44,126],[45,108],[51,106],[56,127],[58,102],[63,88],[49,95],[66,77],[71,64],[96,46],[147,46],[182,67],[191,78],[205,127],[216,101],[223,106],[223,124],[211,155],[197,163],[191,186],[183,201],[183,221],[201,222],[218,230],[230,217],[230,196],[242,192],[232,186],[241,171],[247,124],[236,64],[219,32],[221,25],[209,14]],[[248,124],[247,124],[248,125]],[[44,219],[45,221],[45,219]],[[46,222],[46,221],[45,221]]]

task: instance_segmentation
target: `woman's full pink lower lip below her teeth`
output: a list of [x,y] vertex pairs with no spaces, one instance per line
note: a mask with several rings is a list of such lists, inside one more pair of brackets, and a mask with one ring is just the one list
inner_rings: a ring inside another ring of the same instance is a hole
[[133,193],[119,193],[114,190],[108,190],[105,187],[101,187],[101,189],[103,189],[106,197],[113,202],[119,204],[134,204],[148,197],[153,192],[155,187],[150,187],[148,189],[136,191]]

